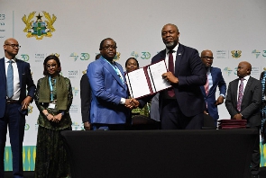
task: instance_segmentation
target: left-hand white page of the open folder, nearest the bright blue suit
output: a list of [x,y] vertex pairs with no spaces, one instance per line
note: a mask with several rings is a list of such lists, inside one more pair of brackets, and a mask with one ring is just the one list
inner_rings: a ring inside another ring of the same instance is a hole
[[143,68],[126,74],[125,79],[130,95],[133,98],[139,98],[151,93]]

